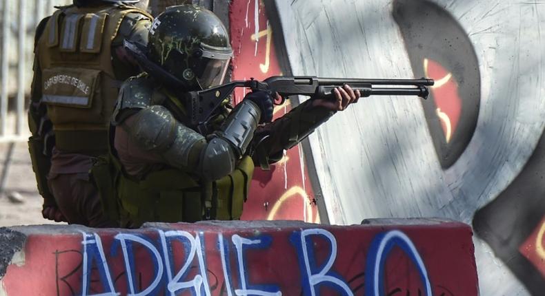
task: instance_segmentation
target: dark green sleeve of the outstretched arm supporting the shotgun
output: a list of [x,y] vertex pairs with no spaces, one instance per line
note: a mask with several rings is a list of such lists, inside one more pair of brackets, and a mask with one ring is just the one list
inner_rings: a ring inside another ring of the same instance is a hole
[[251,154],[261,169],[268,170],[270,164],[282,158],[284,149],[299,144],[335,114],[333,111],[313,107],[311,104],[310,100],[306,101],[273,123],[257,129]]

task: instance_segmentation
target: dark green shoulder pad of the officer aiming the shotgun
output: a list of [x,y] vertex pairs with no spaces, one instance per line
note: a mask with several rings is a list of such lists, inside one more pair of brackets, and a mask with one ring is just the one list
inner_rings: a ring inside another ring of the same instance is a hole
[[144,109],[152,105],[153,86],[146,76],[131,77],[121,85],[112,114],[112,125],[119,125],[127,116],[125,109]]

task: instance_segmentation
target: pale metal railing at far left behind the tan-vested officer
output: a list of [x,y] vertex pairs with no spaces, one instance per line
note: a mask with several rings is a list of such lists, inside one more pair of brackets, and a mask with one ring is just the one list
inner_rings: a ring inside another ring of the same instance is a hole
[[71,0],[1,0],[0,142],[26,140],[26,98],[30,96],[34,33],[54,6]]

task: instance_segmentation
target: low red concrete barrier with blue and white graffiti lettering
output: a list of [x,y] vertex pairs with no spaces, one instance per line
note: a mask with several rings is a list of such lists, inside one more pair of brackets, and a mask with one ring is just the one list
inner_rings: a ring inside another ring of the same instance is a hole
[[20,251],[2,253],[1,295],[477,295],[459,222],[0,229],[4,247],[13,237]]

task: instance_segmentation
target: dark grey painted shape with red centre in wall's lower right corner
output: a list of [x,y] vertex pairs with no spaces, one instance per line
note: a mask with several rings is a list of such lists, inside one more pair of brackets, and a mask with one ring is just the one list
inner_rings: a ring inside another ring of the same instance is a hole
[[545,290],[545,137],[519,176],[473,219],[475,233],[533,295]]

